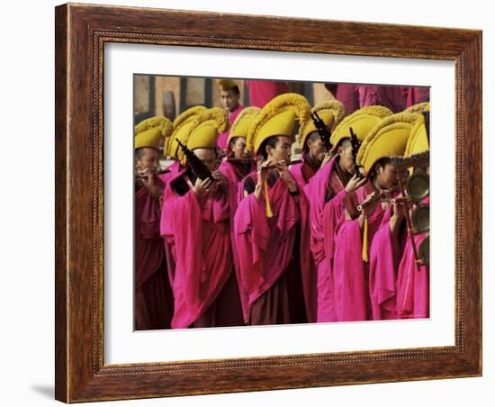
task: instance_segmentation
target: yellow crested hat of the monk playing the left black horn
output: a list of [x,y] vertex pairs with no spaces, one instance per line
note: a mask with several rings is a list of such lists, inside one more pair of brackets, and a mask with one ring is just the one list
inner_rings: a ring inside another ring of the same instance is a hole
[[[199,114],[189,126],[181,142],[188,149],[215,149],[219,133],[229,129],[229,115],[225,109],[212,107]],[[184,153],[179,149],[179,158],[184,160]]]

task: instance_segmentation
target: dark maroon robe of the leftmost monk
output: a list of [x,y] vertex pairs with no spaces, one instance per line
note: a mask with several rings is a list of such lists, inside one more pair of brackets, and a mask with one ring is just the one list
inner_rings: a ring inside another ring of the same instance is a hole
[[[158,185],[163,190],[161,181]],[[174,303],[159,234],[160,208],[144,187],[136,191],[134,218],[135,329],[170,328]]]

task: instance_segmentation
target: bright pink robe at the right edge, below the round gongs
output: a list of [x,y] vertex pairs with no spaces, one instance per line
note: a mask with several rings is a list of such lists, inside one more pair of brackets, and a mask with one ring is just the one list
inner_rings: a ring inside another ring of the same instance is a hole
[[[429,198],[422,203],[429,203]],[[419,249],[426,235],[419,233],[413,238]],[[429,318],[429,267],[416,265],[409,236],[397,276],[397,315],[401,319]]]

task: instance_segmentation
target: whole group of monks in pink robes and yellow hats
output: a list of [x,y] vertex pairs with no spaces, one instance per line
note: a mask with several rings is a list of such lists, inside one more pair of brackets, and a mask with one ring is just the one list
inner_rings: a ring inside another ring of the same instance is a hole
[[428,232],[406,212],[429,198],[395,199],[407,175],[391,160],[428,151],[428,100],[346,113],[286,92],[243,107],[218,83],[222,108],[135,126],[135,329],[428,318]]

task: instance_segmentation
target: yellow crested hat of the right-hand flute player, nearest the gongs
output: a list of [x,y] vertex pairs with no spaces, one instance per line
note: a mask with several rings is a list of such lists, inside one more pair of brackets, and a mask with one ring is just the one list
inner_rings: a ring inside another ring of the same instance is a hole
[[374,126],[356,157],[357,165],[365,169],[365,176],[379,159],[404,155],[414,124],[420,118],[417,113],[397,113],[385,117]]

